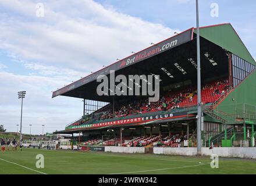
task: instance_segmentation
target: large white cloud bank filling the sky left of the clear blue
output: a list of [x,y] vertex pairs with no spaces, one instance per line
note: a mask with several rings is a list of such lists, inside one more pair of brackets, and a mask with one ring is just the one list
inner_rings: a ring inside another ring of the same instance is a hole
[[51,99],[52,90],[180,32],[91,0],[43,3],[45,17],[36,17],[34,1],[0,0],[0,49],[31,72],[0,72],[0,122],[8,130],[19,123],[17,91],[27,91],[24,123],[38,126],[37,133],[42,123],[48,131],[61,130],[81,116],[82,103]]

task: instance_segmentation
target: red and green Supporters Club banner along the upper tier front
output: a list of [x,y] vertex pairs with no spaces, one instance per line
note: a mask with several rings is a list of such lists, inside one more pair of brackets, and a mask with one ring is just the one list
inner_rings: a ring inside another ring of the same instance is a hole
[[94,124],[84,124],[81,126],[70,126],[66,127],[66,130],[76,130],[80,128],[101,128],[101,127],[109,127],[109,126],[119,126],[123,124],[144,124],[148,121],[157,121],[157,120],[165,120],[165,119],[175,119],[179,117],[186,117],[187,112],[179,112],[179,113],[165,113],[165,114],[158,114],[158,115],[151,115],[151,116],[144,116],[144,117],[133,117],[130,119],[122,119],[122,120],[112,120],[112,121],[102,121],[100,123]]

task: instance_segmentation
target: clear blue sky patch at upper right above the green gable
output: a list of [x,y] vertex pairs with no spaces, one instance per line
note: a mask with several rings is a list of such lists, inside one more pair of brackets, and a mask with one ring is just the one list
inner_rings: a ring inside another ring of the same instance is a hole
[[[96,2],[102,3],[106,7],[113,6],[119,12],[141,17],[148,22],[161,23],[170,28],[186,30],[196,26],[194,0],[97,0]],[[201,0],[199,3],[200,26],[231,23],[251,54],[254,58],[256,57],[256,45],[253,37],[256,30],[256,1]],[[218,3],[219,17],[211,17],[212,3]]]

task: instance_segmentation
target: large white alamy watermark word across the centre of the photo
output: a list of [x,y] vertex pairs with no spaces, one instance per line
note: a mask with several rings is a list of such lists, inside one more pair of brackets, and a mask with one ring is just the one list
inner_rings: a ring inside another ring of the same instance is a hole
[[[125,75],[115,77],[115,70],[111,70],[108,76],[99,75],[97,82],[97,94],[102,95],[150,95],[149,102],[157,102],[159,100],[159,75],[129,75],[128,79]],[[119,83],[116,85],[116,83]]]

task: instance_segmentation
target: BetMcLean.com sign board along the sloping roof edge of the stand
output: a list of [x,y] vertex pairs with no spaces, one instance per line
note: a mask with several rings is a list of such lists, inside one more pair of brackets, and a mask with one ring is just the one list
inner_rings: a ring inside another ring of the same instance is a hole
[[74,88],[80,87],[81,85],[90,83],[91,81],[96,80],[97,77],[100,75],[107,75],[109,74],[110,70],[117,71],[117,70],[123,69],[127,66],[138,63],[144,59],[158,55],[161,52],[168,51],[169,49],[177,47],[185,42],[191,41],[192,33],[193,31],[191,28],[187,31],[184,31],[183,33],[175,35],[174,37],[170,37],[167,40],[159,42],[158,44],[155,44],[152,47],[146,48],[143,51],[134,53],[134,55],[131,55],[125,59],[119,60],[118,62],[113,63],[112,65],[105,67],[104,69],[101,69],[93,74],[90,74],[87,77],[81,78],[81,80],[78,80],[70,85],[67,85],[66,87],[59,89],[58,91],[53,92],[52,98],[54,98],[55,96],[64,94],[67,91],[73,90]]

